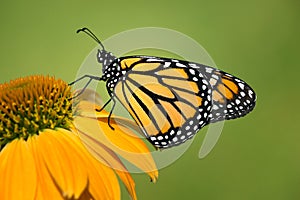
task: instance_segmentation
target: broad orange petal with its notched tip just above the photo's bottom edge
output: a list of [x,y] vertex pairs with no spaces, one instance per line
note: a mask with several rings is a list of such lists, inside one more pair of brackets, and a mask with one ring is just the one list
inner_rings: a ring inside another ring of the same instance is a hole
[[[69,133],[69,135],[71,135]],[[75,136],[74,136],[75,137]],[[81,152],[71,137],[45,130],[36,140],[37,152],[65,197],[78,198],[87,185],[87,170]]]

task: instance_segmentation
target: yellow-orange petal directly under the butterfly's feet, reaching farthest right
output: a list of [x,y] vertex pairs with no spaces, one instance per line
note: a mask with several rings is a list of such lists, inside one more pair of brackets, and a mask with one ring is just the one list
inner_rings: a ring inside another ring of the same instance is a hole
[[83,141],[86,139],[83,133],[88,134],[95,141],[90,148],[97,149],[97,145],[101,143],[147,172],[151,179],[156,181],[157,168],[143,140],[135,136],[130,129],[111,120],[111,124],[115,128],[113,131],[107,124],[107,117],[101,119],[98,121],[95,118],[80,116],[74,119],[76,129],[79,130],[79,135]]

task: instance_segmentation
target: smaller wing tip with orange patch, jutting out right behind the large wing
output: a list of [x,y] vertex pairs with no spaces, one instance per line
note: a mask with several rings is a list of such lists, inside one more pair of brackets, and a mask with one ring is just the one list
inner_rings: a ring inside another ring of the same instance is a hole
[[213,109],[210,123],[239,118],[253,110],[256,95],[246,82],[198,63],[190,63],[189,66],[203,73],[212,87]]

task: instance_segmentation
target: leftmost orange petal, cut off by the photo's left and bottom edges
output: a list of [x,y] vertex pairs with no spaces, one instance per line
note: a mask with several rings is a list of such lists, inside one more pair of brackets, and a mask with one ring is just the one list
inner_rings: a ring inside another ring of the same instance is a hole
[[35,199],[37,174],[26,141],[15,139],[0,152],[0,199]]

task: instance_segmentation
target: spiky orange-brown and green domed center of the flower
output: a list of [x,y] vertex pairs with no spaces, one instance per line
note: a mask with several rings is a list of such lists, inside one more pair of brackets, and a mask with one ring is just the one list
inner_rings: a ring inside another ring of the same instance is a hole
[[49,76],[29,76],[0,84],[0,150],[50,128],[71,125],[71,88]]

